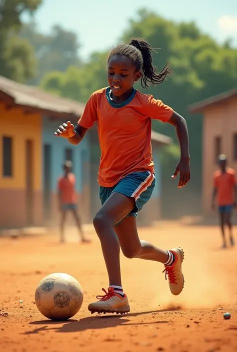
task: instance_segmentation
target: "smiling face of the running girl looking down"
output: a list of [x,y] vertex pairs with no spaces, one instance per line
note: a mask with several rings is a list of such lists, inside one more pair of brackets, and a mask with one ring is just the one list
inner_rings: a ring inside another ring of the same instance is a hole
[[107,80],[112,93],[121,96],[131,91],[140,78],[131,59],[122,55],[111,55],[108,60]]

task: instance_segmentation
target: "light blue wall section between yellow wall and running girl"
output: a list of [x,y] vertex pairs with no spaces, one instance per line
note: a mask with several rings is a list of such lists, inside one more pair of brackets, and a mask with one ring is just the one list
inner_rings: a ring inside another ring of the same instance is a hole
[[[83,188],[83,161],[89,160],[89,143],[88,137],[85,135],[81,143],[78,145],[70,144],[66,139],[55,137],[53,133],[58,126],[66,121],[50,120],[47,116],[42,116],[42,182],[44,175],[44,144],[51,146],[51,191],[56,192],[57,179],[62,174],[62,164],[65,161],[65,149],[72,150],[73,173],[76,177],[76,191],[81,192]],[[43,188],[43,185],[42,185]]]

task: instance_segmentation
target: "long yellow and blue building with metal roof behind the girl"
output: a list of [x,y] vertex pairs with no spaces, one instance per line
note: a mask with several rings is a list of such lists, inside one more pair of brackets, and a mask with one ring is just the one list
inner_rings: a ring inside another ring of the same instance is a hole
[[[73,100],[0,77],[0,228],[57,222],[57,179],[66,159],[73,163],[82,221],[92,220],[100,206],[96,125],[78,146],[53,135],[62,122],[76,124],[83,109]],[[159,149],[169,143],[169,137],[152,132],[156,186],[140,223],[160,217]]]

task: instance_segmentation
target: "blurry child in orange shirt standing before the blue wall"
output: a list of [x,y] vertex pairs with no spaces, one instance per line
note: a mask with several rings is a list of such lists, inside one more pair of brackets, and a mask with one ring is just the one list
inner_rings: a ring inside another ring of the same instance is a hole
[[64,225],[66,214],[70,211],[76,221],[76,225],[79,229],[81,242],[90,242],[86,240],[81,228],[80,219],[77,214],[76,206],[76,194],[75,194],[75,176],[71,173],[71,161],[65,161],[63,164],[64,175],[59,177],[57,189],[58,189],[58,202],[59,209],[61,211],[60,221],[60,242],[64,242]]

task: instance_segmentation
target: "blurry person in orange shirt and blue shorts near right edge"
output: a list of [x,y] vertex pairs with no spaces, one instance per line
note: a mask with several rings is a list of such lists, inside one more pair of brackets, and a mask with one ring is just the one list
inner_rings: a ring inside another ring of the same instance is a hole
[[232,209],[236,207],[237,187],[235,180],[235,171],[227,167],[227,159],[224,154],[218,157],[219,170],[214,172],[213,177],[213,195],[212,209],[215,207],[215,196],[217,196],[217,205],[220,216],[220,228],[222,234],[223,245],[226,248],[224,225],[229,228],[229,242],[234,246],[232,235],[231,215]]

